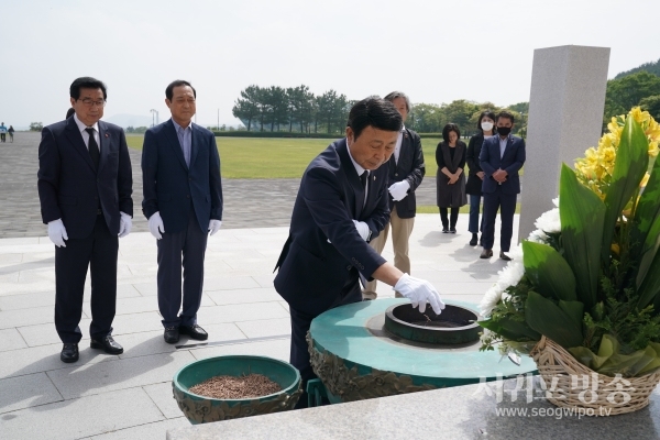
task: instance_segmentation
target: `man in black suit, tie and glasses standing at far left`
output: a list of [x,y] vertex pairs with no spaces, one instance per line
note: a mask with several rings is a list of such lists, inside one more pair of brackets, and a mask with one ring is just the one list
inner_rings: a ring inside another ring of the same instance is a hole
[[120,354],[112,338],[119,237],[131,231],[133,177],[123,130],[100,121],[106,85],[76,79],[73,118],[48,125],[38,145],[38,197],[55,244],[55,328],[64,362],[78,360],[87,267],[91,275],[91,348]]

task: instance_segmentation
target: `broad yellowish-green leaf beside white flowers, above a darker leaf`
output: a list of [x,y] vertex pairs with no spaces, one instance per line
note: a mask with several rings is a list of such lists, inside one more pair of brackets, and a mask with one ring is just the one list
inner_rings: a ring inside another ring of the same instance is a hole
[[536,290],[546,298],[565,301],[578,299],[573,271],[553,248],[524,241],[522,264]]

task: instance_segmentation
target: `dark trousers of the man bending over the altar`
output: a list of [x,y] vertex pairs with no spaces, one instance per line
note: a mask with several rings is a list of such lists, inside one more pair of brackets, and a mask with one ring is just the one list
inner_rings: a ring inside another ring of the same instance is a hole
[[[351,276],[344,287],[337,295],[334,302],[328,308],[343,306],[346,304],[362,301],[362,289],[360,288],[358,271],[351,270]],[[326,310],[323,310],[326,311]],[[309,363],[309,349],[307,345],[307,332],[311,326],[311,321],[321,312],[316,315],[306,314],[300,310],[296,310],[289,306],[289,314],[292,316],[292,349],[289,362],[300,372],[300,378],[302,381],[302,395],[296,405],[296,408],[307,408],[307,382],[317,377],[311,370]]]

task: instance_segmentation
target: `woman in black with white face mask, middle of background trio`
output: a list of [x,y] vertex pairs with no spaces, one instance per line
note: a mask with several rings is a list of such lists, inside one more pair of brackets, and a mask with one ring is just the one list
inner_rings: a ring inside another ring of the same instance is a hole
[[484,180],[484,172],[479,164],[479,155],[481,147],[484,143],[484,139],[491,138],[495,133],[495,113],[491,110],[483,111],[479,116],[476,122],[477,134],[470,138],[468,143],[468,152],[465,153],[465,162],[468,163],[469,174],[468,183],[465,184],[465,193],[470,196],[470,223],[468,230],[472,232],[472,239],[470,240],[471,246],[476,246],[479,240],[479,232],[483,233],[483,220],[479,222],[479,211],[482,198],[482,183]]

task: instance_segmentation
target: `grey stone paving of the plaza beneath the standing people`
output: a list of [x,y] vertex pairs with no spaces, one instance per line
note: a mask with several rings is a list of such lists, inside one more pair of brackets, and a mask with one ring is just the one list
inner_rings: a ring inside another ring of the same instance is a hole
[[[136,216],[134,232],[120,240],[113,334],[124,353],[89,348],[88,279],[80,360],[62,363],[53,324],[53,244],[36,200],[37,144],[38,133],[16,133],[14,144],[0,146],[1,439],[164,439],[168,429],[188,426],[170,382],[186,363],[219,354],[288,359],[288,309],[273,287],[273,267],[288,233],[295,179],[224,182],[226,221],[209,239],[198,314],[207,343],[163,341],[155,240],[140,232],[145,222]],[[139,152],[131,154],[139,163]],[[433,205],[432,197],[424,204]],[[455,235],[442,234],[439,223],[437,215],[417,217],[413,275],[429,279],[444,298],[479,302],[504,263],[480,260],[481,249],[466,244],[466,215]],[[384,256],[392,258],[389,243]],[[382,283],[378,293],[393,296]]]

